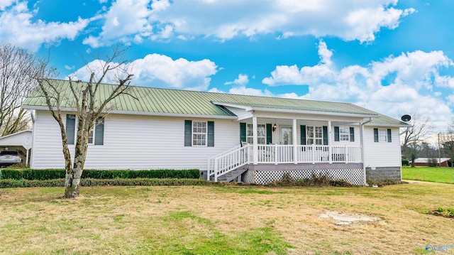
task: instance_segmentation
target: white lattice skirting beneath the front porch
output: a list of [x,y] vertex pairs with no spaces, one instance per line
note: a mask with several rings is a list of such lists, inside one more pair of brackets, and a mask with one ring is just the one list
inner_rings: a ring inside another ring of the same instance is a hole
[[306,170],[248,170],[243,174],[244,183],[267,184],[275,180],[282,180],[284,173],[289,173],[294,179],[311,178],[312,173],[317,176],[326,175],[333,180],[345,180],[352,185],[364,184],[362,168],[352,169],[306,169]]

